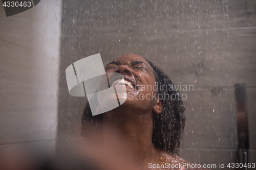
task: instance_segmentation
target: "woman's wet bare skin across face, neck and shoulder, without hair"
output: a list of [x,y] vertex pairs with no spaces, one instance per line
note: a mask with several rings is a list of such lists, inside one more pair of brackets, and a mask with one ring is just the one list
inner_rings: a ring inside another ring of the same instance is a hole
[[[156,91],[153,88],[144,88],[156,84],[154,70],[150,64],[141,56],[125,54],[106,65],[105,71],[119,72],[136,88],[126,86],[126,92],[129,93],[127,100],[121,106],[102,114],[103,137],[107,135],[104,134],[104,127],[117,130],[141,169],[150,169],[150,162],[187,162],[178,156],[156,149],[152,144],[153,114],[161,114],[162,106],[158,99],[153,98]],[[142,99],[142,96],[147,96],[147,99]]]

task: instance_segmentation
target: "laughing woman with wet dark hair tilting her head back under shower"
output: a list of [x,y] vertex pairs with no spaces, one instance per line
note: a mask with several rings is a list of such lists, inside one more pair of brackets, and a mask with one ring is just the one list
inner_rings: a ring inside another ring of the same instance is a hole
[[96,116],[92,116],[87,104],[82,135],[86,136],[92,125],[102,129],[99,136],[105,136],[107,127],[114,127],[143,169],[181,169],[183,163],[189,163],[177,156],[185,125],[185,105],[163,71],[135,54],[117,57],[105,66],[105,71],[123,75],[127,100]]

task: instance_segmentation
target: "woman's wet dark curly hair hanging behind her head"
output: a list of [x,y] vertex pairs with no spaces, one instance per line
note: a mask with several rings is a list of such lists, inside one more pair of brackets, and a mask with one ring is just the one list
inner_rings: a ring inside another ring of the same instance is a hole
[[[153,115],[152,143],[156,148],[169,154],[177,154],[185,125],[185,105],[181,94],[167,75],[152,62],[146,61],[154,70],[158,87],[157,93],[158,96],[161,95],[159,100],[162,104],[161,114],[154,113]],[[164,98],[164,95],[170,96],[170,98]],[[93,116],[87,103],[82,115],[82,135],[90,130],[92,123],[102,126],[103,116],[102,114]]]

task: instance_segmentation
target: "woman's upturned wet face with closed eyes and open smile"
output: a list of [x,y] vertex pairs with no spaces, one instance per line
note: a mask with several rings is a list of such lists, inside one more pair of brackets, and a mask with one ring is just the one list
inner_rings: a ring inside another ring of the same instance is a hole
[[[106,72],[119,72],[125,80],[127,100],[120,107],[152,110],[157,102],[155,74],[141,56],[125,54],[105,66]],[[110,86],[115,82],[110,80]]]

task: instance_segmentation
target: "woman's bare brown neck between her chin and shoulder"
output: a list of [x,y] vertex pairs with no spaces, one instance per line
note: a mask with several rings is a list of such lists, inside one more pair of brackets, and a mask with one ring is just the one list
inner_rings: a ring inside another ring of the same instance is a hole
[[112,127],[117,130],[136,160],[145,161],[155,157],[156,150],[152,144],[153,114],[150,112],[127,111],[114,109],[103,114],[104,129]]

